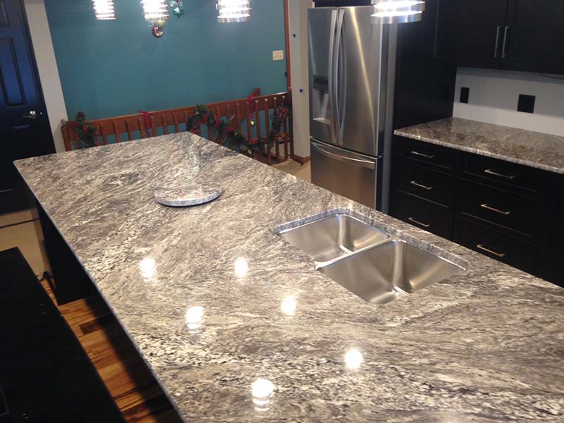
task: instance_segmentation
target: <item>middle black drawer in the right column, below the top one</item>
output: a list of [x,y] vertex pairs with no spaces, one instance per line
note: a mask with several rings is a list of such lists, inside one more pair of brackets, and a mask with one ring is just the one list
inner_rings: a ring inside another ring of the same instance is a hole
[[462,188],[461,214],[516,231],[531,241],[537,239],[541,202],[470,182]]

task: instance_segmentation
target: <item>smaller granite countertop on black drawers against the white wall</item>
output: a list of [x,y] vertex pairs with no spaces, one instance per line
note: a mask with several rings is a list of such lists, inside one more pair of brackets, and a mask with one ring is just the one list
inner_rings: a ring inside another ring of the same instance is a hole
[[446,118],[397,129],[396,135],[564,173],[564,136]]

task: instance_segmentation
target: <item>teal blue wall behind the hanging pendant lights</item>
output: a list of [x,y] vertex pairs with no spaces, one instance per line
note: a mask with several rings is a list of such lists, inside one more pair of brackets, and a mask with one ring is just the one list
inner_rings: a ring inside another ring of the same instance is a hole
[[286,91],[283,0],[252,1],[247,23],[217,23],[215,0],[184,0],[154,38],[140,0],[96,20],[91,0],[45,0],[69,118],[104,118]]

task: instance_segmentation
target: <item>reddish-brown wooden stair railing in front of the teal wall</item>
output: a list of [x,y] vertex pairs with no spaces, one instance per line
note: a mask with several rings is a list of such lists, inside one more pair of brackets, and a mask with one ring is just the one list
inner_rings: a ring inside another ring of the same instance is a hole
[[[255,97],[255,94],[260,94],[259,88],[253,91],[252,95],[254,98],[252,102],[248,99],[236,99],[207,104],[207,108],[213,110],[217,116],[233,122],[238,130],[247,137],[267,137],[271,130],[271,112],[283,104],[290,93],[281,92],[263,96],[258,95],[257,97]],[[113,142],[122,142],[124,138],[126,141],[132,141],[140,138],[183,132],[186,130],[185,125],[188,116],[194,113],[195,106],[149,112],[150,133],[145,129],[144,116],[141,113],[95,119],[89,122],[97,130],[95,137],[97,144],[105,145]],[[248,118],[251,114],[255,114],[254,126],[251,125]],[[287,160],[293,154],[292,119],[290,116],[291,114],[288,114],[288,118],[283,122],[282,130],[276,135],[271,149],[265,146],[262,154],[255,154],[256,159],[259,161],[264,160],[267,164],[271,164],[272,159],[278,163],[279,161]],[[64,125],[66,121],[62,123],[66,150],[70,151],[82,147],[75,131],[71,127]],[[206,125],[202,125],[199,129],[203,137],[214,141],[214,137],[212,133],[208,133]],[[222,144],[221,141],[219,142]],[[281,156],[280,152],[281,145],[283,145],[283,156]]]

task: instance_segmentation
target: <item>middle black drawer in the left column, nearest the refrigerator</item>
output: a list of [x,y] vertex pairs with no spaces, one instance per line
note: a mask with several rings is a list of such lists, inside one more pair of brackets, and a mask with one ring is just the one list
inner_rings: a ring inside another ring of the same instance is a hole
[[398,160],[397,188],[411,195],[435,202],[446,209],[453,209],[455,203],[455,180],[444,173],[432,171],[413,164],[412,161]]

